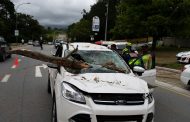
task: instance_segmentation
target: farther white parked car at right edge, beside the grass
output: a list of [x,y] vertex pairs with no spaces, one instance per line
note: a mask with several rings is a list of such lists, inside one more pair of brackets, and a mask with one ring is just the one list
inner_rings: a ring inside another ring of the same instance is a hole
[[190,51],[180,52],[176,55],[176,58],[179,63],[190,64]]

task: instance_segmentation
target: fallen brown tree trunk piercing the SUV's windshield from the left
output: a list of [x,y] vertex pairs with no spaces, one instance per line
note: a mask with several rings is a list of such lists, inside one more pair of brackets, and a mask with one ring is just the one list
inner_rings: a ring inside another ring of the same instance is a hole
[[49,63],[57,64],[59,66],[69,67],[69,68],[73,68],[73,69],[89,68],[89,65],[84,62],[80,62],[77,60],[71,61],[67,58],[48,56],[48,55],[44,55],[39,52],[34,52],[34,51],[30,51],[30,50],[25,50],[25,49],[11,50],[11,51],[9,51],[9,53],[23,55],[23,56],[26,56],[26,57],[29,57],[32,59],[37,59],[40,61],[49,62]]

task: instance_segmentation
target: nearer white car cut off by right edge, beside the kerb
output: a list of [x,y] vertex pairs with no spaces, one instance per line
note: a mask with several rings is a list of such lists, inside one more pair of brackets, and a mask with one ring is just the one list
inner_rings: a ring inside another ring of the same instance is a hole
[[190,85],[190,64],[185,65],[180,76],[180,80],[185,85]]

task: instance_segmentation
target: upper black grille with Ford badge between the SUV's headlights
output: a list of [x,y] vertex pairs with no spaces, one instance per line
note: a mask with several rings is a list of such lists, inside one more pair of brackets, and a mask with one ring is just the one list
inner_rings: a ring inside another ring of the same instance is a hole
[[143,105],[144,94],[91,94],[95,104]]

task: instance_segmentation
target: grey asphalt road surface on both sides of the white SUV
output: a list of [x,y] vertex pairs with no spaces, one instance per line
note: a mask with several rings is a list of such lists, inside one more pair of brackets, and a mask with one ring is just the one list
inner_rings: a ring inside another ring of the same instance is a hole
[[[50,55],[53,46],[25,46]],[[44,62],[12,55],[0,62],[0,122],[50,122],[51,96],[47,93],[47,69]],[[15,66],[14,66],[15,65]],[[36,76],[40,66],[42,77]],[[189,122],[190,94],[184,95],[157,87],[155,122]]]

